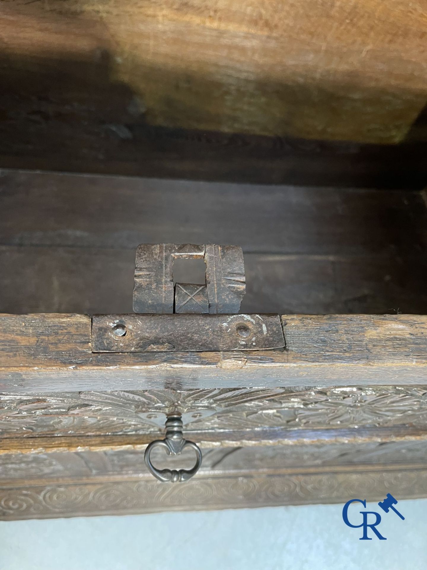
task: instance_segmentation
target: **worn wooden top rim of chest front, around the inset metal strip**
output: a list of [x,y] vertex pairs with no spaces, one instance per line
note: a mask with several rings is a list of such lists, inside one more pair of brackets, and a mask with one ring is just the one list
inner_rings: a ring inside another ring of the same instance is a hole
[[2,315],[0,391],[425,384],[426,316],[282,321],[285,351],[97,354],[89,317]]

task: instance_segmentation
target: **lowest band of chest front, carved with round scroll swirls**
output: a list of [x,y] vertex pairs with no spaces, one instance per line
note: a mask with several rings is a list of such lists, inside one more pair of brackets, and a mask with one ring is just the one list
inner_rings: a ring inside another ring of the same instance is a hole
[[355,496],[380,500],[396,490],[399,499],[427,496],[427,469],[200,477],[183,485],[119,481],[3,486],[0,519],[340,503]]

